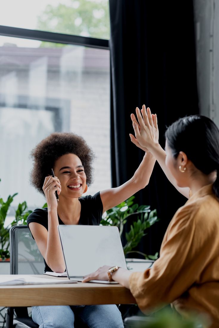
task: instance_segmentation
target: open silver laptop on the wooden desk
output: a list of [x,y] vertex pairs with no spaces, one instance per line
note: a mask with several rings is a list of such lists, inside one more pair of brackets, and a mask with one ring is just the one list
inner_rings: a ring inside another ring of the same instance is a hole
[[[103,265],[127,269],[119,229],[112,226],[58,225],[67,276],[82,281]],[[117,284],[116,281],[91,282]]]

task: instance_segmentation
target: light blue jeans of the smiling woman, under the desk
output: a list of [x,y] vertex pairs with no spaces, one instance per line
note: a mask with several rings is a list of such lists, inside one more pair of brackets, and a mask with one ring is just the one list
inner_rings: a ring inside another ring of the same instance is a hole
[[124,328],[116,305],[33,306],[32,318],[39,328],[74,328],[75,315],[90,328]]

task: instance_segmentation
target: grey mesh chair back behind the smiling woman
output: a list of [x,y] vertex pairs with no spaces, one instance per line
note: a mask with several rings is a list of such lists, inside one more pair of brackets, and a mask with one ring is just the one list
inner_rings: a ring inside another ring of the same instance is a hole
[[12,275],[41,275],[45,264],[35,240],[26,225],[10,229],[10,273]]

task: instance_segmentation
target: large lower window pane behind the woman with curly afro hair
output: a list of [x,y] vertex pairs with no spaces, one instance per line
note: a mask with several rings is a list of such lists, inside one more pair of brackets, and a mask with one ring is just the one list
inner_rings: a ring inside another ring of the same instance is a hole
[[89,194],[109,188],[109,50],[0,36],[0,195],[33,209],[30,151],[54,131],[83,136],[96,153]]

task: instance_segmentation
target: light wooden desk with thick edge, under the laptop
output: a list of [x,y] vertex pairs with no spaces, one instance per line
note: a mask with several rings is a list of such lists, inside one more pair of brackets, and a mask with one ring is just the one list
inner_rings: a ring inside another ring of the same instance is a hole
[[[14,278],[17,277],[14,275]],[[45,275],[35,277],[55,278]],[[67,280],[68,278],[56,279]],[[76,284],[0,286],[0,306],[7,307],[132,303],[136,303],[136,300],[131,292],[119,284],[78,282]]]

